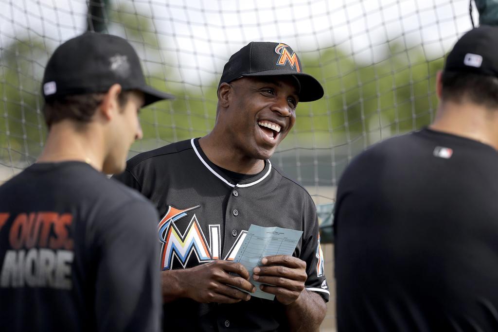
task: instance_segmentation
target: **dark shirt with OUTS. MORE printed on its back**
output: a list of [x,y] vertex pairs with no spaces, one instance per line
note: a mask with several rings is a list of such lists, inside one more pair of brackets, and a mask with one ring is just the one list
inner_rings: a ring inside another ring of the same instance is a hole
[[158,331],[157,212],[82,162],[0,186],[1,331]]

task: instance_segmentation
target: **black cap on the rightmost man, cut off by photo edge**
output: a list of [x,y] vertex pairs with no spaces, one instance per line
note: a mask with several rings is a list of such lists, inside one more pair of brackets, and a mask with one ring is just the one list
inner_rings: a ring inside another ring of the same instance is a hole
[[445,72],[498,77],[498,27],[481,25],[465,33],[446,58]]

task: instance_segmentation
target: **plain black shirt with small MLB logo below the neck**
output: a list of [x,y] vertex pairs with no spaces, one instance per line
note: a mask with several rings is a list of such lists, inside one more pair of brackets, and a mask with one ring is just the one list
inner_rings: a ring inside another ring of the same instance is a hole
[[498,153],[430,129],[369,148],[335,211],[338,331],[498,331]]

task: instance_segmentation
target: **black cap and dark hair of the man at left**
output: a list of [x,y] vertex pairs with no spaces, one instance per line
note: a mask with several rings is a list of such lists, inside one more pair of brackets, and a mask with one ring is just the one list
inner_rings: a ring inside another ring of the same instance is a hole
[[43,76],[48,127],[66,118],[89,122],[114,84],[121,85],[122,106],[125,92],[132,90],[143,93],[143,106],[172,98],[145,84],[138,55],[125,39],[87,32],[66,41],[50,57]]

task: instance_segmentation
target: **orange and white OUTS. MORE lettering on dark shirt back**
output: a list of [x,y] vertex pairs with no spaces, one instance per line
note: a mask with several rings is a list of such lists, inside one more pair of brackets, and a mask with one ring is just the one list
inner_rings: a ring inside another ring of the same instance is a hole
[[0,213],[1,236],[8,234],[8,244],[0,247],[0,252],[5,252],[0,266],[0,288],[71,289],[72,222],[69,213]]

